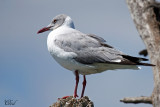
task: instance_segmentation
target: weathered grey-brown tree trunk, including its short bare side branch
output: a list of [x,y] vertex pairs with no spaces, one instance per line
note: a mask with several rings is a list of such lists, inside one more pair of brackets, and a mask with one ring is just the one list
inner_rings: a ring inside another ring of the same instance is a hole
[[[150,97],[125,98],[125,103],[151,103],[160,107],[160,4],[155,0],[126,0],[153,67],[154,89]],[[144,98],[147,98],[145,100]],[[150,99],[150,100],[148,100]],[[131,102],[132,101],[132,102]]]

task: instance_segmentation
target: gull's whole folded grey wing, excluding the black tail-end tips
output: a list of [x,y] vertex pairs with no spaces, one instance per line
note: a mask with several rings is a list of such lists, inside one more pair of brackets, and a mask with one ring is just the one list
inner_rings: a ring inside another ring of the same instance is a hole
[[67,35],[65,39],[56,40],[55,44],[64,51],[76,53],[74,59],[80,63],[120,63],[124,60],[124,54],[105,44],[101,37],[77,32]]

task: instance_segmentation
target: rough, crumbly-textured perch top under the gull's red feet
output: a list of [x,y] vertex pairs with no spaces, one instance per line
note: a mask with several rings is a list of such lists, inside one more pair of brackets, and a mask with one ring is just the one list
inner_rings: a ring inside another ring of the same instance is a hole
[[80,99],[76,99],[73,98],[73,96],[70,96],[66,99],[60,98],[50,107],[94,107],[94,105],[87,96],[84,96]]

